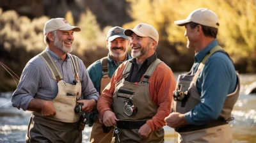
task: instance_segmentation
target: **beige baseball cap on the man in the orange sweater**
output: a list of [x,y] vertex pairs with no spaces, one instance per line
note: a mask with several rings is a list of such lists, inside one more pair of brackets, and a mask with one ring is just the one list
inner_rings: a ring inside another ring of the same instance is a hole
[[159,35],[156,29],[153,26],[150,26],[148,24],[140,23],[137,26],[135,26],[133,29],[126,29],[124,31],[124,34],[126,36],[131,36],[132,33],[135,33],[141,37],[150,37],[155,41],[157,41],[157,43],[159,40]]

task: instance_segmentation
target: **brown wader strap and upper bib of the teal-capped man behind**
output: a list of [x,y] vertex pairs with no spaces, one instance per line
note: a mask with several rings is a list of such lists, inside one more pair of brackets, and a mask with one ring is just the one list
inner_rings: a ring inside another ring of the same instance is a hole
[[108,86],[110,82],[110,77],[108,76],[108,57],[102,57],[100,59],[100,63],[102,65],[102,78],[100,81],[100,94],[105,89],[106,86]]

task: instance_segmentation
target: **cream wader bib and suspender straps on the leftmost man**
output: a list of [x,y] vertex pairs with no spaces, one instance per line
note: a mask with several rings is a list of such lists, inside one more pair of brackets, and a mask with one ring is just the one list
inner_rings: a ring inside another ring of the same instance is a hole
[[[81,100],[81,82],[79,80],[78,74],[79,66],[77,63],[76,56],[70,56],[70,62],[72,64],[72,70],[74,72],[75,80],[74,84],[68,84],[62,78],[60,71],[57,66],[54,64],[51,56],[47,51],[39,54],[45,63],[49,67],[52,73],[52,79],[57,80],[58,82],[58,94],[52,100],[54,109],[56,110],[56,116],[44,117],[47,119],[52,119],[55,121],[61,121],[65,123],[75,123],[79,121],[80,115],[74,111],[77,100]],[[42,116],[41,112],[33,112],[36,116]]]

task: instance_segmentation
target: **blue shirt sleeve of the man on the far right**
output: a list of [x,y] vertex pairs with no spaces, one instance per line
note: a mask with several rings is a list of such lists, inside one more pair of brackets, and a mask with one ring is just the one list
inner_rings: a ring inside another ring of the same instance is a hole
[[[222,53],[221,53],[222,54]],[[217,119],[223,109],[225,99],[230,89],[231,68],[227,62],[228,57],[214,55],[205,63],[202,76],[202,88],[200,103],[194,109],[185,114],[189,124],[205,124]]]

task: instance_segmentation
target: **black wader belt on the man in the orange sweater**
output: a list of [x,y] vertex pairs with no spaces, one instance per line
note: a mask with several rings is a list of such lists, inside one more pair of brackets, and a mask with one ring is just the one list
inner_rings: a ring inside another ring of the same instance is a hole
[[140,129],[143,124],[145,124],[147,120],[144,121],[116,121],[116,127],[120,129]]

